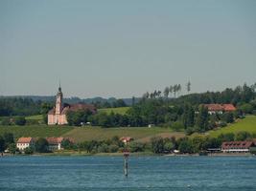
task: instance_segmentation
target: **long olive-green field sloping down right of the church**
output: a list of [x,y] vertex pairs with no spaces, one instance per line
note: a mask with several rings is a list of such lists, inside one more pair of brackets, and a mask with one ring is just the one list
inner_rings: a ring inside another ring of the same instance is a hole
[[103,140],[107,138],[118,137],[131,137],[140,141],[148,141],[151,137],[172,137],[182,136],[182,133],[174,133],[171,129],[159,128],[159,127],[122,127],[122,128],[101,128],[101,127],[81,127],[75,128],[70,132],[67,132],[63,137],[74,138],[80,142],[83,140]]

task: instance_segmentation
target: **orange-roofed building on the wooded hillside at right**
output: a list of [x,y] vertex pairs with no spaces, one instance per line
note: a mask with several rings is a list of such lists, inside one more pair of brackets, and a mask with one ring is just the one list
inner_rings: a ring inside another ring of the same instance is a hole
[[208,109],[210,115],[236,111],[233,104],[204,104],[203,106]]

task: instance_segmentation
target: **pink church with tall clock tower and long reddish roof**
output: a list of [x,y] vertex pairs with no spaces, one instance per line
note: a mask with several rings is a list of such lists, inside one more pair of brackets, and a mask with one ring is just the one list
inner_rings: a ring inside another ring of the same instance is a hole
[[67,124],[67,113],[69,111],[77,112],[80,110],[89,110],[92,114],[96,113],[96,107],[91,104],[77,103],[77,104],[63,104],[63,94],[61,87],[58,87],[58,94],[56,96],[56,106],[48,112],[48,125],[64,125]]

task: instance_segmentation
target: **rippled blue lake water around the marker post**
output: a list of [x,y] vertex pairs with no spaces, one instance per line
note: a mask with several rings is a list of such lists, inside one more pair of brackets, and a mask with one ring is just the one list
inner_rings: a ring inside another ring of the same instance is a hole
[[256,190],[256,157],[0,158],[0,190]]

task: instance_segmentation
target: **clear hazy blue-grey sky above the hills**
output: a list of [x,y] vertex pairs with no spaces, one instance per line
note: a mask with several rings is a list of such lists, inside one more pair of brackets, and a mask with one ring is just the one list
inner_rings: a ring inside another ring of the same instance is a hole
[[0,95],[142,96],[256,82],[256,1],[1,0]]

